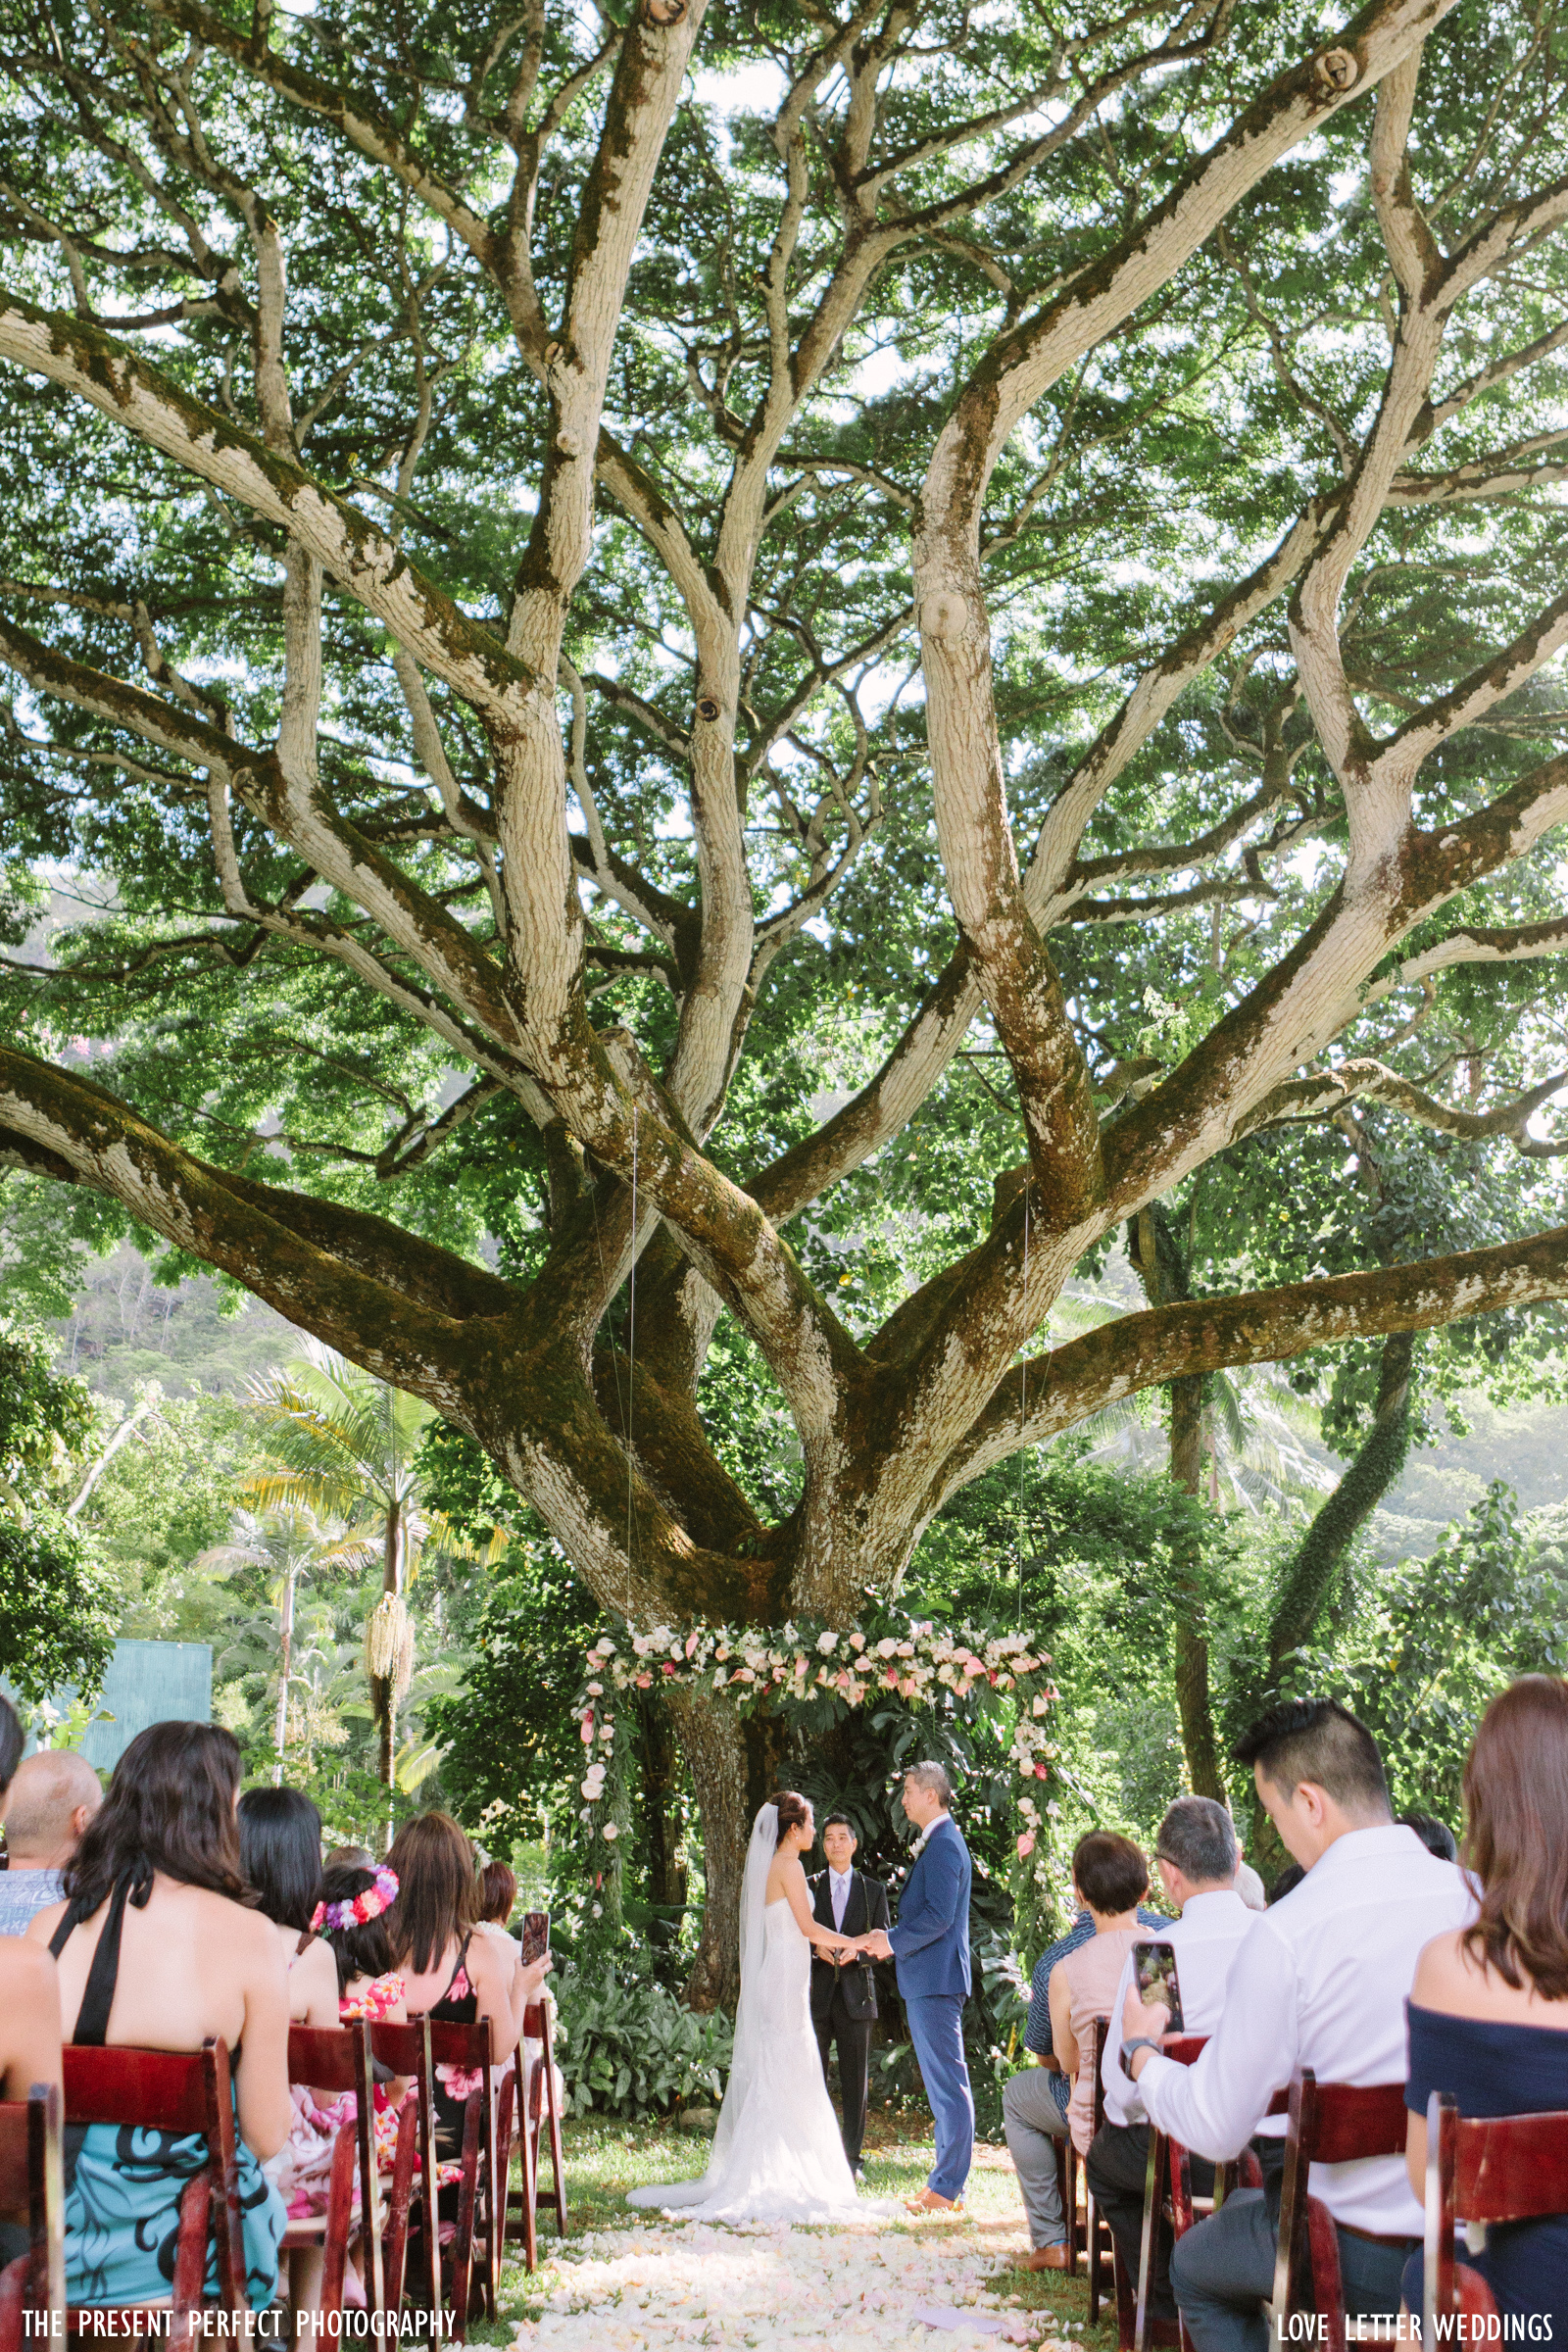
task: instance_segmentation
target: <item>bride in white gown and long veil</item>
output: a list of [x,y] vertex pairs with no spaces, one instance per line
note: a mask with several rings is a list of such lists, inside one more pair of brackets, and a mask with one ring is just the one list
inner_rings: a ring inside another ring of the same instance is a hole
[[804,1797],[783,1795],[757,1813],[741,1886],[736,2056],[712,2157],[701,2180],[632,2190],[628,2204],[677,2220],[811,2223],[877,2211],[856,2197],[811,2030],[811,1945],[825,1957],[844,1950],[806,1900],[799,1858],[813,1837]]

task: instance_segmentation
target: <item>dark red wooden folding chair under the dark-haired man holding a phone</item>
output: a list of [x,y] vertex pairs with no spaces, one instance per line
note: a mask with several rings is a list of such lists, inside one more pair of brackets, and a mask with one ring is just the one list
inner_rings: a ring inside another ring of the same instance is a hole
[[[1319,2352],[1345,2352],[1345,2288],[1333,2213],[1307,2190],[1314,2164],[1354,2164],[1363,2157],[1403,2157],[1406,2086],[1401,2082],[1319,2082],[1309,2065],[1291,2077],[1291,2129],[1279,2192],[1279,2251],[1274,2256],[1274,2345],[1298,2340],[1291,2319],[1312,2312]],[[1307,2263],[1312,2303],[1302,2300]],[[1368,2340],[1366,2336],[1361,2338]],[[1392,2338],[1389,2338],[1392,2340]]]

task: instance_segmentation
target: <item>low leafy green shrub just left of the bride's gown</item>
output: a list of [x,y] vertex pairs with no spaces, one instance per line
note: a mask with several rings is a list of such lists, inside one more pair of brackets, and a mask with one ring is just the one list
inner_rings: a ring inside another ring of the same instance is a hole
[[574,2114],[649,2114],[724,2096],[736,2030],[722,2009],[703,2018],[651,1978],[609,1969],[569,1969],[555,1997],[555,2058]]

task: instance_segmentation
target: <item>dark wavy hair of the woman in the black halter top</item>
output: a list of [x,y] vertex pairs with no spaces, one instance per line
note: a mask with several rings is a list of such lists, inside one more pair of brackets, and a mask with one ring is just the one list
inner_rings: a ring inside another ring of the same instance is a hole
[[153,1870],[254,1910],[256,1896],[240,1870],[240,1740],[221,1724],[139,1731],[66,1865],[66,1898],[78,1919],[92,1919],[127,1872],[146,1900]]

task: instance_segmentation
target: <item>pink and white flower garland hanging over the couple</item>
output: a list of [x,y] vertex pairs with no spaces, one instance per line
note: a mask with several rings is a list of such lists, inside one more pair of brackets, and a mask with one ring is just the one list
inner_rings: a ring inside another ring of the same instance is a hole
[[[1056,1686],[1051,1658],[1025,1632],[985,1632],[879,1609],[849,1632],[792,1621],[771,1632],[755,1625],[701,1625],[677,1632],[654,1625],[599,1635],[588,1651],[588,1679],[576,1700],[583,1738],[578,1783],[595,1884],[618,1891],[621,1839],[628,1830],[625,1743],[618,1740],[621,1693],[677,1689],[722,1696],[738,1715],[827,1708],[839,1715],[889,1698],[910,1710],[950,1698],[964,1715],[1001,1712],[1009,1724],[1009,1773],[1018,1832],[1013,1903],[1020,1933],[1056,1907],[1051,1820],[1058,1811],[1051,1738]],[[1009,1722],[1011,1719],[1011,1722]]]

